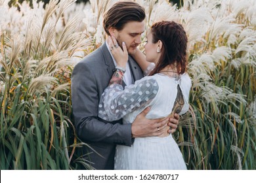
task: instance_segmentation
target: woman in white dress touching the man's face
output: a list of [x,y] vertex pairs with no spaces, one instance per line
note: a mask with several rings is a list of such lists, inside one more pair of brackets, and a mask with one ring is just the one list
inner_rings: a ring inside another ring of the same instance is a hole
[[[126,46],[123,43],[121,50],[114,37],[109,44],[117,67],[100,99],[100,118],[123,118],[127,124],[146,107],[151,108],[147,114],[151,119],[187,112],[191,80],[186,73],[187,37],[182,25],[169,21],[152,25],[144,46],[146,59],[141,52],[134,56],[148,76],[125,90],[121,82],[128,57]],[[115,169],[186,169],[186,165],[172,135],[164,133],[161,137],[136,138],[131,147],[117,146]]]

